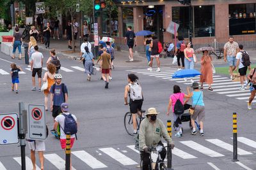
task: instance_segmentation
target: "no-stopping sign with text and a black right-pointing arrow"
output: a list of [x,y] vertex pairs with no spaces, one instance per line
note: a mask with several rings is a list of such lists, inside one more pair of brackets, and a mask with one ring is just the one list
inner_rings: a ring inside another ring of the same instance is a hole
[[28,135],[26,138],[38,141],[46,139],[44,105],[28,105]]

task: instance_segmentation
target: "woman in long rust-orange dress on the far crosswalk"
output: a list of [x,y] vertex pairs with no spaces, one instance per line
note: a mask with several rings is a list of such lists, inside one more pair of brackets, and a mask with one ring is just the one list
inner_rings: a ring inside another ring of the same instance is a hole
[[213,83],[212,78],[212,57],[209,55],[209,52],[207,50],[203,51],[203,56],[201,58],[201,75],[200,75],[200,83],[201,87],[200,89],[204,89],[203,85],[204,83],[207,83],[209,85],[208,90],[212,91],[211,84]]

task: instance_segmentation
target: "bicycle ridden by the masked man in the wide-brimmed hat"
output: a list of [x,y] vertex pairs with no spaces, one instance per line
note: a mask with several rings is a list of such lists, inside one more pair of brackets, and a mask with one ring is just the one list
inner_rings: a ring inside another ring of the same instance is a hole
[[[162,146],[162,145],[158,145],[156,146],[156,148],[148,148],[148,152],[149,154],[149,160],[150,160],[150,164],[148,165],[148,169],[149,170],[153,170],[153,159],[151,157],[151,152],[156,151],[157,153],[157,160],[156,160],[156,165],[154,167],[154,169],[158,169],[158,170],[167,170],[166,165],[164,164],[164,160],[161,158],[160,152],[163,150],[163,148],[167,148],[167,146]],[[142,165],[143,165],[143,160],[140,160],[140,167],[142,170]]]

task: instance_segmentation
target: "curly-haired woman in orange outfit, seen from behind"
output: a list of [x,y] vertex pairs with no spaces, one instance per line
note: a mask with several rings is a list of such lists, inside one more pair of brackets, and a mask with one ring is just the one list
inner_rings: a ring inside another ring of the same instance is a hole
[[[54,64],[49,63],[47,65],[48,71],[44,73],[44,84],[42,87],[44,87],[45,83],[47,83],[47,89],[44,90],[44,104],[45,104],[45,111],[48,111],[48,97],[49,97],[49,92],[52,87],[52,85],[55,83],[54,75],[56,72],[56,67]],[[43,90],[43,89],[42,89]]]

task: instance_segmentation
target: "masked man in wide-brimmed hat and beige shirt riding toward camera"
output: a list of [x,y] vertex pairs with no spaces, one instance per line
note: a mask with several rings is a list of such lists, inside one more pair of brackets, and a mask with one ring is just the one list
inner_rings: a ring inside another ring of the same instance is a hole
[[[161,142],[162,136],[168,145],[170,145],[172,149],[174,148],[174,143],[172,143],[172,139],[163,122],[157,118],[157,114],[159,114],[159,112],[156,111],[156,108],[149,108],[147,114],[145,114],[147,118],[140,124],[139,146],[143,170],[148,170],[150,164],[149,156],[151,153],[148,153],[148,148],[156,148],[157,145],[163,146]],[[164,160],[166,157],[166,149],[163,148],[159,153]]]

